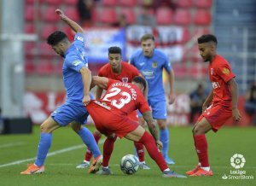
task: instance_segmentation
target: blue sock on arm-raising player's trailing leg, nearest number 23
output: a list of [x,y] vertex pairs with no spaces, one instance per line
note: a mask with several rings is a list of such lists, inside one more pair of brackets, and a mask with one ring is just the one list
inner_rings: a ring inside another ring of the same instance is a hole
[[82,127],[78,134],[82,138],[84,144],[90,149],[93,157],[96,158],[101,154],[92,133],[86,127]]

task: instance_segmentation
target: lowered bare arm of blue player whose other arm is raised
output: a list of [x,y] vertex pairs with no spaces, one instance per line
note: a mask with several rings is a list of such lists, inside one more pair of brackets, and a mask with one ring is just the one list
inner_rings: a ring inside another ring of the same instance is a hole
[[79,71],[82,75],[82,80],[84,84],[84,98],[83,103],[87,105],[90,103],[90,83],[91,83],[91,73],[87,67],[82,67]]

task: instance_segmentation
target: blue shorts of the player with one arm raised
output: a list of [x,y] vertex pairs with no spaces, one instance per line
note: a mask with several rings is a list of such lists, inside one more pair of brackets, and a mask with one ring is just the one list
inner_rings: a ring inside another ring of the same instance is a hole
[[84,105],[65,102],[50,115],[59,125],[65,126],[73,121],[81,125],[86,124],[89,113]]

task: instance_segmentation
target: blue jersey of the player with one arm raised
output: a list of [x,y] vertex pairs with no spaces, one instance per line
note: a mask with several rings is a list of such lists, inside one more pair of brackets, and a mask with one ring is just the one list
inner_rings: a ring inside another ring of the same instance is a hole
[[82,75],[79,73],[82,67],[88,67],[85,57],[84,34],[77,33],[73,44],[65,53],[62,67],[64,86],[67,91],[67,103],[83,105],[84,84]]

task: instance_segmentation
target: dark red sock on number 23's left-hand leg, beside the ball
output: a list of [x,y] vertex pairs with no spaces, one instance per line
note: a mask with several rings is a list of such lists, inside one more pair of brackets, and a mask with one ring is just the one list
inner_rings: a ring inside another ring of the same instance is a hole
[[105,140],[103,144],[103,161],[102,161],[102,166],[107,167],[109,159],[111,157],[111,154],[113,152],[113,144],[116,141],[117,137],[109,138]]

